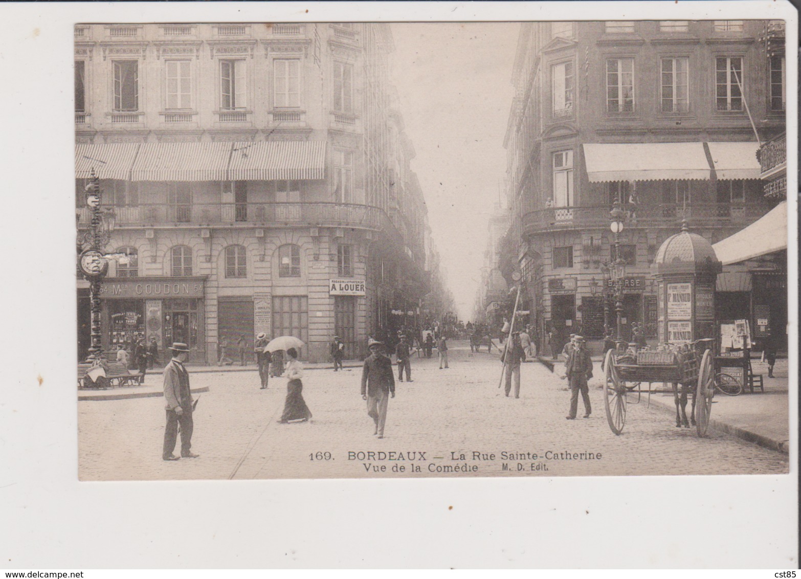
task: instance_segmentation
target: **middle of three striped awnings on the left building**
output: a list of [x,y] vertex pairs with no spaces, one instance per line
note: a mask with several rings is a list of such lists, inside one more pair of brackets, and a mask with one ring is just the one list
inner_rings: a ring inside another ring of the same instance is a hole
[[231,143],[144,143],[132,181],[224,181]]

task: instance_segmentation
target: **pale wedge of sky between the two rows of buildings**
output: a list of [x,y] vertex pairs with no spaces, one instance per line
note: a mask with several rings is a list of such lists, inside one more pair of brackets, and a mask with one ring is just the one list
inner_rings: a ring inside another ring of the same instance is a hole
[[434,243],[461,320],[473,316],[487,220],[504,195],[503,139],[519,23],[393,23],[390,77]]

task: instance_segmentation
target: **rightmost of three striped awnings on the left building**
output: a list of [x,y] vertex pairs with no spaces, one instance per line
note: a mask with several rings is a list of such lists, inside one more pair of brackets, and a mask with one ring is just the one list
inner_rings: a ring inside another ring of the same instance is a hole
[[234,143],[229,179],[324,179],[325,141]]

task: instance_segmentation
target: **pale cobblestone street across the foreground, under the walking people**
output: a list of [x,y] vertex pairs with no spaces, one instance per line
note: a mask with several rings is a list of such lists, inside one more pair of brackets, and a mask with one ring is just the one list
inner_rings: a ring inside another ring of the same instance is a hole
[[[372,436],[372,420],[359,393],[360,368],[336,373],[308,370],[303,393],[314,416],[303,424],[276,424],[286,394],[283,378],[272,379],[270,388],[260,390],[255,368],[195,372],[192,387],[210,388],[199,395],[195,412],[192,450],[201,455],[199,459],[161,460],[163,398],[81,401],[80,477],[187,480],[788,471],[787,455],[712,429],[706,439],[698,439],[694,428],[676,428],[664,409],[646,408],[645,398],[641,404],[630,405],[622,436],[614,436],[606,422],[597,377],[590,381],[593,415],[581,418],[580,401],[578,420],[568,421],[570,392],[557,376],[561,365],[551,374],[541,364],[523,364],[518,400],[505,397],[503,388],[497,388],[500,371],[496,355],[471,354],[460,343],[451,350],[447,370],[439,370],[434,358],[413,359],[413,382],[396,384],[383,440]],[[601,374],[598,363],[594,374]],[[158,381],[160,376],[148,380]],[[389,460],[400,458],[389,452],[403,453],[403,459]],[[582,452],[600,458],[562,454]],[[420,460],[421,453],[425,460]],[[461,470],[453,472],[454,467]]]

